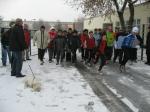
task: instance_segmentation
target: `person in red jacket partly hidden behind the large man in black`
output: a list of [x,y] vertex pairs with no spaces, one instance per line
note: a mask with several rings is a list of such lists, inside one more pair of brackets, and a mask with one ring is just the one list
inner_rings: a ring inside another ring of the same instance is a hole
[[27,24],[24,24],[24,36],[25,36],[25,42],[26,42],[26,45],[27,45],[27,49],[25,49],[23,51],[23,60],[31,60],[29,58],[29,48],[30,48],[30,31],[29,31],[29,28],[28,28],[28,25]]

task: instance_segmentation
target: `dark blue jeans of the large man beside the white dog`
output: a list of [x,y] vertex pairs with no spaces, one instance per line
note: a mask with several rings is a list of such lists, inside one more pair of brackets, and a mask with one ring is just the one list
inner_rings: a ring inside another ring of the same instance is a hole
[[11,75],[20,76],[23,65],[22,51],[12,51]]

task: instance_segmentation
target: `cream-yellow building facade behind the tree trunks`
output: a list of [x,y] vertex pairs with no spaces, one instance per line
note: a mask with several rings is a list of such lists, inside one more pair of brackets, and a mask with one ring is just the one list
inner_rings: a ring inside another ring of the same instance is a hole
[[[126,26],[128,26],[128,20],[129,20],[128,8],[125,9],[124,18],[125,18],[125,24]],[[108,24],[112,24],[114,30],[116,27],[120,27],[120,22],[117,13],[112,15],[111,19],[102,16],[86,19],[84,21],[84,28],[93,30],[95,28],[105,28],[105,26],[107,26]],[[144,29],[143,29],[143,25],[144,25]],[[134,17],[134,26],[139,27],[141,35],[143,33],[143,30],[144,30],[144,34],[147,33],[147,27],[149,25],[150,25],[150,1],[135,6],[135,17]]]

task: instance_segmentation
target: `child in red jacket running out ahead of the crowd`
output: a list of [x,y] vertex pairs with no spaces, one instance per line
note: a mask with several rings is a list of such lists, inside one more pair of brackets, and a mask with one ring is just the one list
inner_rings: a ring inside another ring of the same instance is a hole
[[101,71],[103,66],[105,65],[106,63],[106,58],[105,58],[105,50],[106,50],[106,47],[107,47],[107,42],[106,42],[106,34],[104,33],[102,35],[102,40],[101,42],[99,43],[99,47],[98,47],[98,51],[96,53],[96,57],[99,57],[100,58],[100,66],[99,66],[99,69],[98,71]]

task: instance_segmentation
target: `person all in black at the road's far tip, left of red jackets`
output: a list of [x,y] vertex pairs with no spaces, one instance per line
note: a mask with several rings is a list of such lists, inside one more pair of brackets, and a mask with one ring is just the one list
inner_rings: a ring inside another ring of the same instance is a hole
[[76,30],[73,31],[72,37],[70,38],[71,41],[71,54],[72,54],[72,63],[76,62],[76,52],[77,49],[80,47],[80,39],[78,36],[78,32]]

